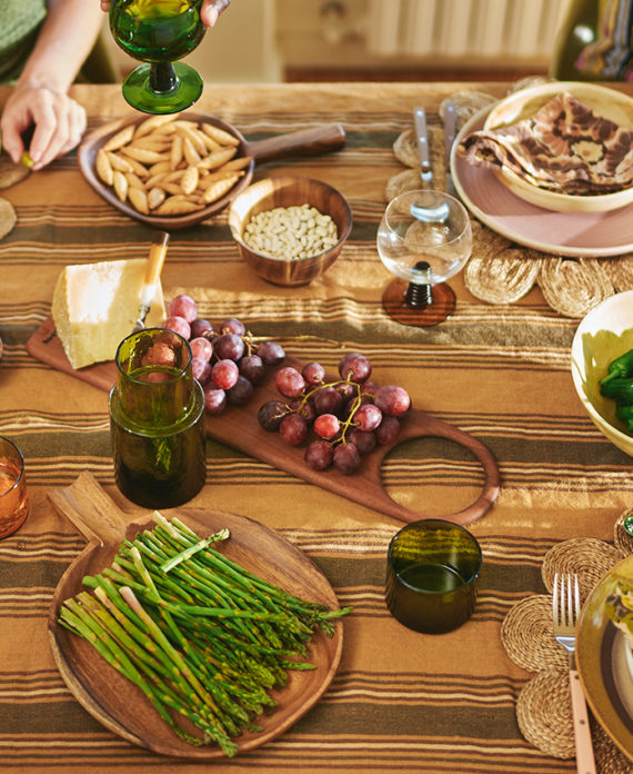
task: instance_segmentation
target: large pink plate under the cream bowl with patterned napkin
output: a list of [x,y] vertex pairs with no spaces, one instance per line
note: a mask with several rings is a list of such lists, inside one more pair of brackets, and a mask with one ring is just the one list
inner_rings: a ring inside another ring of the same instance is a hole
[[545,209],[513,194],[491,169],[460,158],[456,146],[483,128],[490,110],[484,108],[462,127],[451,155],[455,188],[472,215],[503,237],[543,252],[604,257],[633,250],[633,204],[606,212]]

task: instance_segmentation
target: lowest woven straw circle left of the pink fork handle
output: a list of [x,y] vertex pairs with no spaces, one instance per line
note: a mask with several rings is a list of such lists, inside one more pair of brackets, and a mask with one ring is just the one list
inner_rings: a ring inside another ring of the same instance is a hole
[[541,672],[526,683],[516,699],[516,722],[523,736],[537,750],[556,758],[574,757],[569,673]]

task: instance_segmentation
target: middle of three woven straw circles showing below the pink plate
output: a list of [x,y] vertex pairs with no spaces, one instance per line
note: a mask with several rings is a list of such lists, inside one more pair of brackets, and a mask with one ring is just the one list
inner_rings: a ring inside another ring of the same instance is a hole
[[613,285],[596,258],[543,258],[537,279],[547,304],[565,317],[584,317]]

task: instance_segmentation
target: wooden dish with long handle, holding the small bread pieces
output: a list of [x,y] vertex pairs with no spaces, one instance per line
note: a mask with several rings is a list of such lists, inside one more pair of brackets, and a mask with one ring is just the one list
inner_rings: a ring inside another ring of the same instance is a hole
[[91,131],[84,137],[79,147],[79,167],[89,185],[92,186],[105,201],[130,218],[159,228],[162,231],[190,228],[223,210],[240,191],[248,187],[253,176],[254,165],[258,162],[272,161],[293,156],[316,156],[319,153],[332,152],[341,149],[345,143],[345,132],[340,123],[316,125],[309,129],[301,129],[287,135],[278,135],[249,142],[235,127],[227,123],[227,121],[220,118],[194,112],[182,113],[179,117],[181,119],[198,122],[205,121],[219,129],[228,131],[240,141],[235,158],[244,157],[250,159],[250,161],[243,169],[244,175],[238,180],[233,188],[221,199],[213,201],[203,209],[184,215],[144,215],[134,209],[129,201],[121,201],[114,192],[114,189],[107,186],[99,178],[96,171],[96,160],[99,149],[102,148],[113,135],[128,125],[141,123],[147,118],[145,115],[135,118],[127,117],[104,123]]

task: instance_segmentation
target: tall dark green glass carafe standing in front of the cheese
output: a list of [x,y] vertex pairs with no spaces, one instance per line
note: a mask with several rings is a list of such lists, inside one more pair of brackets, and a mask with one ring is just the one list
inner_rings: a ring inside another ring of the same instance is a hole
[[117,350],[110,393],[114,478],[147,508],[172,508],[207,479],[204,394],[193,378],[189,341],[162,328],[128,336]]

